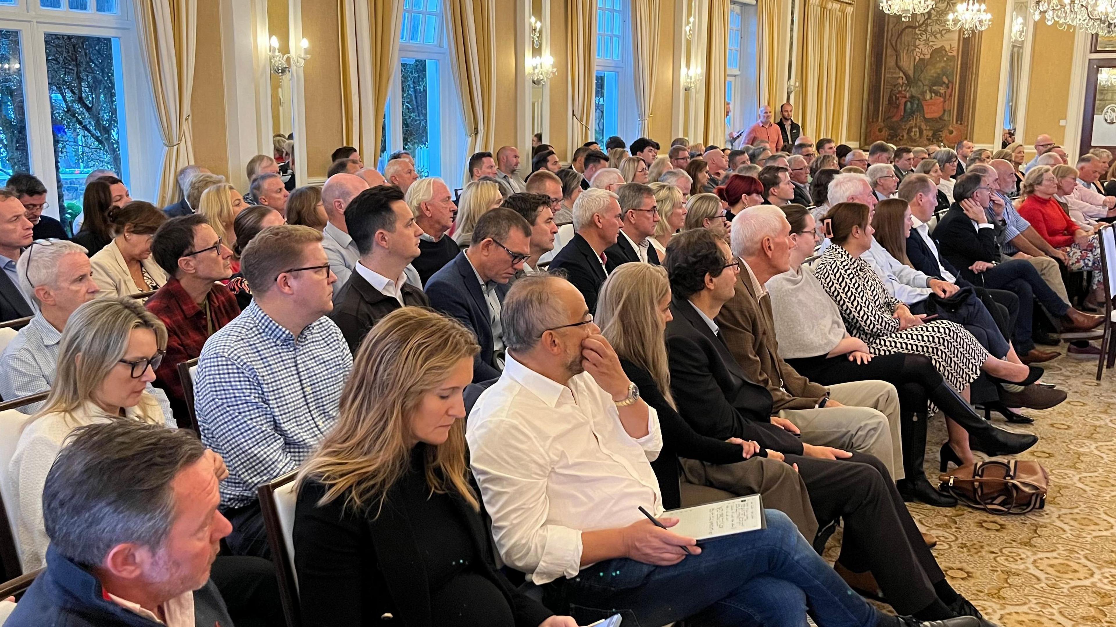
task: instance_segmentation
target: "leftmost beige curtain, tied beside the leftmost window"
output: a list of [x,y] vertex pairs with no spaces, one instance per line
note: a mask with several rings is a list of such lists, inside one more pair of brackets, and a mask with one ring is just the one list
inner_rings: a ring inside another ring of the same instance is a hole
[[194,85],[198,0],[136,0],[136,35],[151,76],[158,132],[166,146],[158,204],[177,193],[175,174],[194,160],[190,98]]

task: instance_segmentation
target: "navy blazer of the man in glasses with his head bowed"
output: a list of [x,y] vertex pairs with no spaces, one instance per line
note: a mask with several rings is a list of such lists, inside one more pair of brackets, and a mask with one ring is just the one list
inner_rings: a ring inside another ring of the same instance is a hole
[[[500,302],[503,302],[510,287],[510,283],[497,286],[496,293]],[[459,252],[453,261],[434,272],[426,281],[425,291],[431,307],[461,320],[477,336],[481,351],[473,361],[473,383],[499,377],[500,369],[496,366],[496,350],[492,347],[492,326],[489,324],[491,312],[484,300],[484,292],[481,291],[481,283],[477,280],[477,272],[465,258],[465,251]]]

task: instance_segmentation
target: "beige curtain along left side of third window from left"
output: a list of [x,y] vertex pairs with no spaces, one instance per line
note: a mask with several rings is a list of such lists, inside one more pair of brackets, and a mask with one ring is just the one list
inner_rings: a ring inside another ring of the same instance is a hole
[[567,0],[566,58],[569,67],[569,146],[593,139],[593,97],[597,75],[597,0]]

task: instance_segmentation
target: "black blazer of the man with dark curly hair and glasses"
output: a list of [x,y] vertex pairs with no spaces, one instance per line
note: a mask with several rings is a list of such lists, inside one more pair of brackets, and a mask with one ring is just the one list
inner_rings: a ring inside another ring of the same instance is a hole
[[771,424],[771,393],[748,379],[729,346],[689,301],[671,302],[666,324],[671,393],[679,413],[709,437],[754,440],[764,448],[800,455],[802,443]]

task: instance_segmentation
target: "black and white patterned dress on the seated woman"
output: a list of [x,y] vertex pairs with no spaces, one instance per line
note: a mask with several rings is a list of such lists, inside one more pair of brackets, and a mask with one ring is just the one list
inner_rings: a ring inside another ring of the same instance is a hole
[[837,303],[849,335],[864,340],[873,355],[925,355],[956,389],[980,376],[989,354],[961,325],[933,320],[899,330],[899,321],[892,318],[899,300],[887,293],[866,261],[834,244],[818,259],[814,274]]

